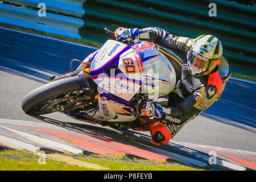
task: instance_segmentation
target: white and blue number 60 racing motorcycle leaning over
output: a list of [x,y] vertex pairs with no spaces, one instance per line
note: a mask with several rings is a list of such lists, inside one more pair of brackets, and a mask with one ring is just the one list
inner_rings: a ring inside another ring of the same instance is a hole
[[[109,35],[114,33],[108,28]],[[177,56],[172,53],[171,56]],[[27,114],[59,111],[102,126],[127,127],[140,117],[145,101],[159,102],[176,84],[174,66],[159,47],[148,42],[107,40],[74,72],[52,76],[22,101]]]

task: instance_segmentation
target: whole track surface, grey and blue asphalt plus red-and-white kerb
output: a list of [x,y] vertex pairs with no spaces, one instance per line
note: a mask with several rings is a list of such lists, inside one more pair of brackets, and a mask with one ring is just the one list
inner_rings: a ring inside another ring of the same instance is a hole
[[[70,154],[131,155],[200,168],[256,168],[256,84],[230,78],[220,100],[164,146],[150,133],[114,130],[76,121],[61,113],[27,115],[20,107],[49,77],[69,72],[72,59],[95,48],[0,28],[0,146]],[[78,64],[74,63],[73,68]],[[0,147],[0,148],[1,148]],[[214,154],[214,155],[213,155]],[[210,163],[215,157],[215,163]]]

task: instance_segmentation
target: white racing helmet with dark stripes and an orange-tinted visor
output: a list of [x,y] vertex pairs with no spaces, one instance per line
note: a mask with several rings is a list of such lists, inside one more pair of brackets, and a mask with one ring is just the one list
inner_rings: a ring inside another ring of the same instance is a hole
[[187,53],[188,71],[193,76],[209,74],[222,56],[222,44],[215,36],[201,35],[193,40]]

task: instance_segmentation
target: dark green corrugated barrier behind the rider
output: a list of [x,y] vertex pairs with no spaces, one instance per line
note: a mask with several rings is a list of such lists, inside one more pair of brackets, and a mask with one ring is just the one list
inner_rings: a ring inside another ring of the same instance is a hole
[[[209,16],[209,3],[216,3],[217,16]],[[160,27],[190,38],[211,34],[236,71],[250,68],[249,74],[256,74],[256,7],[225,0],[88,0],[84,9],[82,38],[104,42],[104,27]]]

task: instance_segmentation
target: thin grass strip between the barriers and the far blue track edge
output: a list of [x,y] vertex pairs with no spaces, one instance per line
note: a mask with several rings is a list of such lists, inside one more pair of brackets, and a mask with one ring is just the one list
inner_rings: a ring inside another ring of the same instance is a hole
[[[47,32],[42,32],[42,31],[39,31],[39,30],[31,29],[31,28],[14,26],[12,24],[7,24],[7,23],[0,23],[0,27],[9,28],[11,30],[18,30],[18,31],[22,31],[22,32],[27,32],[27,33],[30,33],[30,34],[47,36],[49,38],[64,40],[64,41],[67,41],[67,42],[72,42],[72,43],[76,43],[76,44],[82,44],[82,45],[85,45],[85,46],[91,46],[91,47],[96,47],[96,48],[100,48],[101,45],[102,45],[102,43],[95,42],[93,40],[70,38],[68,36],[57,35],[57,34],[50,34],[50,33],[47,33]],[[256,82],[256,75],[243,74],[243,73],[240,73],[240,72],[233,71],[232,72],[232,77],[240,78],[242,80],[248,80],[248,81]]]

